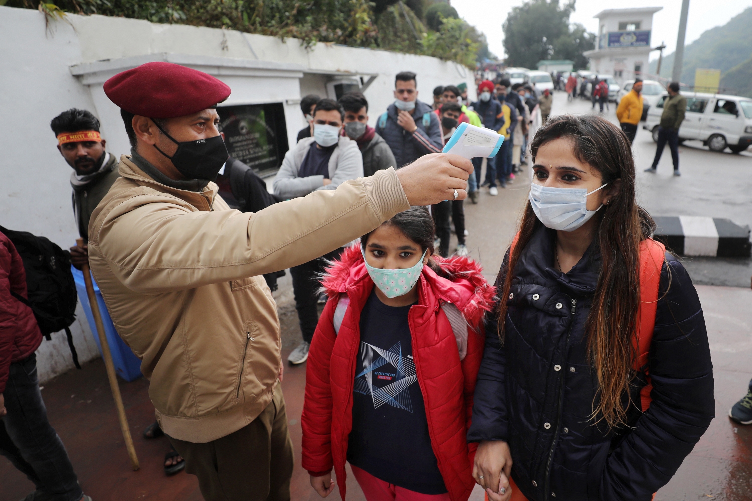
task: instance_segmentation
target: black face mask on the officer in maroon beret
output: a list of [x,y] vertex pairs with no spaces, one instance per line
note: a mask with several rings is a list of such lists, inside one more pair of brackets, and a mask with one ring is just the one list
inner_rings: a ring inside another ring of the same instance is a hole
[[217,174],[229,157],[227,146],[225,146],[225,141],[221,135],[180,143],[165,132],[165,129],[159,127],[156,122],[154,122],[154,125],[162,131],[162,134],[165,134],[173,143],[177,144],[177,150],[172,156],[157,148],[156,144],[154,147],[172,161],[180,174],[190,180],[214,181],[217,179]]

